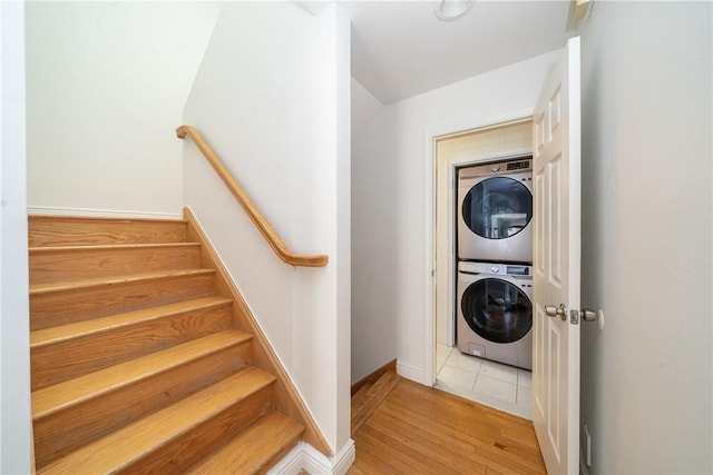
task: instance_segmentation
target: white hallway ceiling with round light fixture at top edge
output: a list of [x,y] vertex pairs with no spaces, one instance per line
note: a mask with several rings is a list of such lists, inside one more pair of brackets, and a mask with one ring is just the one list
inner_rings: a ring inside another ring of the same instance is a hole
[[352,21],[352,77],[390,103],[565,46],[572,3],[473,0],[439,20],[439,1],[339,0]]

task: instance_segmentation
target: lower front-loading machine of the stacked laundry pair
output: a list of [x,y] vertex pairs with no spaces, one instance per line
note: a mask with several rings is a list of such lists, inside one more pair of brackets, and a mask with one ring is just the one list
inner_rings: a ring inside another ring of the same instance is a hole
[[533,369],[531,270],[518,264],[458,264],[461,353]]

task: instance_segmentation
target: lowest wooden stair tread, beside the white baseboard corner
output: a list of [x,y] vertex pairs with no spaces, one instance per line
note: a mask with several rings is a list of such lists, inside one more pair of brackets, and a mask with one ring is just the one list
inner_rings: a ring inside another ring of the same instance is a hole
[[286,455],[304,427],[273,412],[256,420],[228,444],[188,468],[185,474],[254,474]]

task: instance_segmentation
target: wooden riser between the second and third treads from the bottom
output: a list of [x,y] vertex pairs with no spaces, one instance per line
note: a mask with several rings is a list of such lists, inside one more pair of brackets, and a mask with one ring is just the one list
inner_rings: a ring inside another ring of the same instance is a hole
[[178,368],[35,419],[36,464],[49,462],[193,394],[251,363],[252,343],[216,352]]

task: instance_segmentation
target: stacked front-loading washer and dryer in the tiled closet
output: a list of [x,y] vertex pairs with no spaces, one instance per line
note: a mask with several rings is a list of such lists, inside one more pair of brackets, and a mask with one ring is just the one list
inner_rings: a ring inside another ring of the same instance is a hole
[[531,157],[458,170],[458,349],[533,368]]

